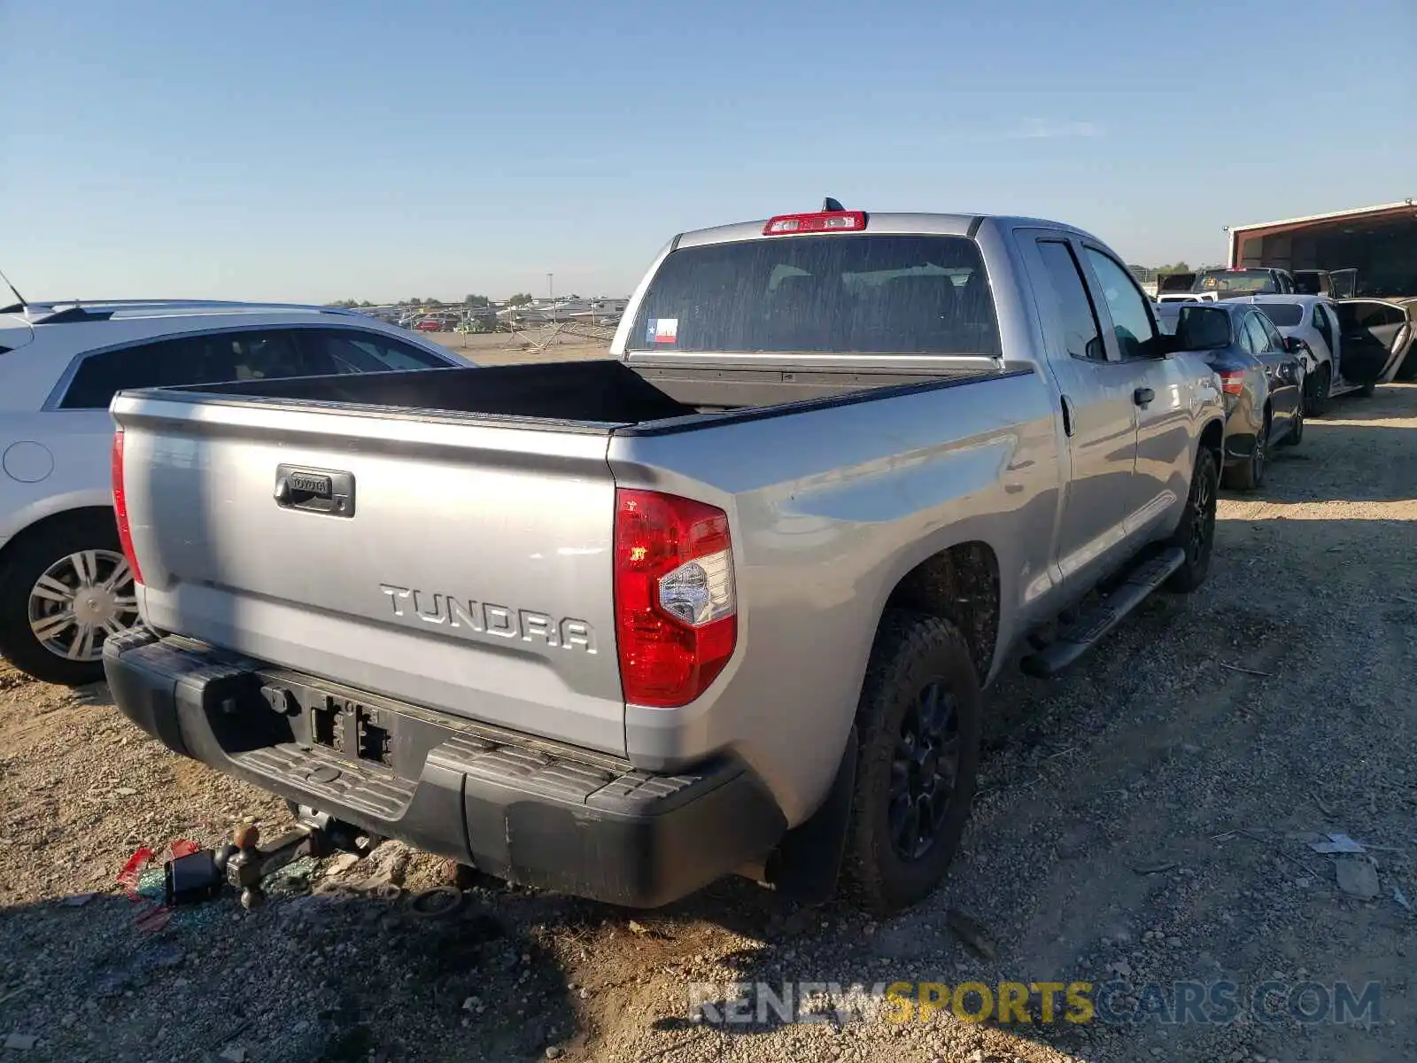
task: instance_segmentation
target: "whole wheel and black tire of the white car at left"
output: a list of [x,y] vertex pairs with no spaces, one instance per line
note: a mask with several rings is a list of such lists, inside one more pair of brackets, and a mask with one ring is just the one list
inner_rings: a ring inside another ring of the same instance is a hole
[[35,679],[96,683],[103,641],[135,624],[133,574],[111,512],[50,520],[0,558],[0,655]]

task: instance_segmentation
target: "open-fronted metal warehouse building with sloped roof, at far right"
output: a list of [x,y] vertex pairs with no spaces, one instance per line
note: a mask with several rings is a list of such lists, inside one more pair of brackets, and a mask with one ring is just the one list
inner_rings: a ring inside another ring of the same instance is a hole
[[1357,269],[1360,295],[1417,295],[1413,200],[1230,228],[1231,266]]

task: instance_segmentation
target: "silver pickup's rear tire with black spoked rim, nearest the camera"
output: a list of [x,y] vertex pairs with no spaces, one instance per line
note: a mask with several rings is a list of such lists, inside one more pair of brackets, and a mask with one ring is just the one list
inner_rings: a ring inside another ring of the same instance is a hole
[[973,802],[982,694],[949,621],[887,609],[856,713],[860,736],[842,893],[879,916],[928,897]]

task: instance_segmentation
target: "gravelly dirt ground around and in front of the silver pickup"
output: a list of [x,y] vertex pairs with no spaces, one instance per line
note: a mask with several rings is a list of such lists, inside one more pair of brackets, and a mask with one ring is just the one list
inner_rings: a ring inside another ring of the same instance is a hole
[[[1417,1059],[1414,550],[1417,387],[1338,401],[1261,490],[1223,499],[1200,592],[1148,602],[1060,680],[995,689],[965,849],[879,924],[744,880],[656,913],[482,882],[427,916],[412,896],[439,865],[385,845],[292,869],[254,913],[156,926],[160,876],[133,899],[116,882],[139,846],[285,808],[170,755],[102,689],[0,672],[0,1059]],[[1339,832],[1366,853],[1311,849]],[[1340,865],[1377,894],[1340,889]],[[1114,979],[1110,1015],[1145,1020],[898,1023],[837,998],[826,1022],[720,1026],[689,1006],[690,984],[713,1003],[734,982]],[[1176,982],[1233,982],[1241,1005],[1316,984],[1316,1020],[1166,1022]],[[1377,1006],[1333,1022],[1340,982],[1377,984]]]

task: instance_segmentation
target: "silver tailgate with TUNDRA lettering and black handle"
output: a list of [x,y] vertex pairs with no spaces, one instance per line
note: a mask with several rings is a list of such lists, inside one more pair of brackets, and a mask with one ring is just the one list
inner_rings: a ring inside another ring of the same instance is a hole
[[606,428],[120,394],[149,625],[623,754]]

